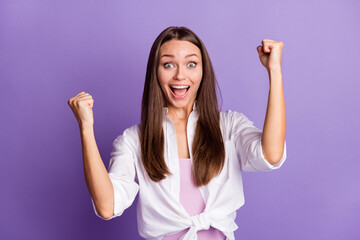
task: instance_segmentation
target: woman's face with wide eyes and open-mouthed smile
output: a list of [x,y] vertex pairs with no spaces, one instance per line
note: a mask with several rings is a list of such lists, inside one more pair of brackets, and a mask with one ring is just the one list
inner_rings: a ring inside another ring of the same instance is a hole
[[188,41],[165,42],[157,74],[167,107],[192,109],[203,75],[200,49]]

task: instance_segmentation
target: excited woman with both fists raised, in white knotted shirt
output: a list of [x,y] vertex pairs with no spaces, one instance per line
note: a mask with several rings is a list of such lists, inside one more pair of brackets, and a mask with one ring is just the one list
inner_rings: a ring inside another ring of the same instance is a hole
[[244,204],[241,171],[270,171],[286,159],[283,43],[262,44],[257,50],[270,78],[263,131],[242,113],[219,112],[209,55],[185,27],[169,27],[155,40],[141,123],[113,142],[109,172],[94,138],[94,100],[85,92],[69,99],[97,216],[120,216],[139,193],[138,230],[146,239],[234,239]]

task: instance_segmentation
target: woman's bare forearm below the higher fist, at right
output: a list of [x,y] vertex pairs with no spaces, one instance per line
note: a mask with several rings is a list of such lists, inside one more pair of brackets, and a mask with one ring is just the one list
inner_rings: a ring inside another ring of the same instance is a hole
[[265,159],[275,164],[283,155],[286,113],[281,70],[270,70],[268,73],[270,89],[261,144]]

